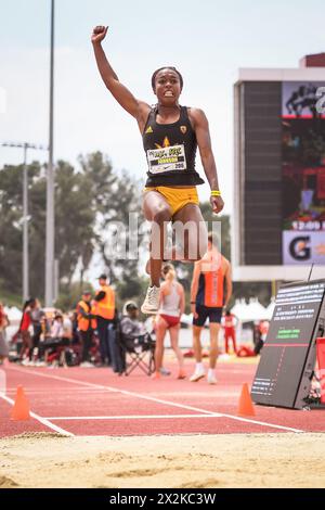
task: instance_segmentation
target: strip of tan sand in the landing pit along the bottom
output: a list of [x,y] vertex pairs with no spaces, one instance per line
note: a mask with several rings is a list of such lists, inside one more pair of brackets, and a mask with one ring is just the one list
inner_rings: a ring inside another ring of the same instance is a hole
[[325,487],[323,434],[0,439],[0,488]]

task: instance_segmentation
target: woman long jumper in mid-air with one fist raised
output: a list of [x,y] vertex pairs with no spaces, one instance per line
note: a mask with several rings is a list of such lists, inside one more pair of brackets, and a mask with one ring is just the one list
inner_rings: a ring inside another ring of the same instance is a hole
[[122,85],[112,68],[102,41],[108,27],[96,26],[92,43],[100,74],[116,101],[138,122],[148,164],[143,195],[145,218],[152,221],[150,273],[151,285],[141,307],[144,314],[156,314],[159,306],[159,286],[162,260],[167,258],[166,227],[169,221],[188,224],[185,229],[183,253],[173,252],[171,258],[194,262],[207,248],[207,229],[198,206],[196,186],[204,183],[195,170],[198,146],[203,167],[211,188],[211,207],[223,208],[217,168],[211,149],[209,125],[202,110],[181,106],[179,98],[183,78],[172,66],[165,66],[152,76],[152,88],[157,104],[152,107],[140,101]]

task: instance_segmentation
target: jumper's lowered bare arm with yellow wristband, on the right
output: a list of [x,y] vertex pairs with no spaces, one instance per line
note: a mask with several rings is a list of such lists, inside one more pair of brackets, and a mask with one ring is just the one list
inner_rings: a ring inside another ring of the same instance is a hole
[[[211,191],[219,191],[217,165],[212,153],[208,119],[203,110],[199,109],[191,109],[190,118],[194,125],[202,164]],[[221,196],[211,196],[210,202],[213,213],[220,213],[223,209],[224,203]]]

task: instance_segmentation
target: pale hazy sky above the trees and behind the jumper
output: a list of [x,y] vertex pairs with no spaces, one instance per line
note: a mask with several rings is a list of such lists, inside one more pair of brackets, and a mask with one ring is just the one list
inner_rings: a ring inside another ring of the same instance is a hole
[[[135,122],[109,97],[98,75],[90,34],[109,25],[104,42],[121,81],[155,102],[150,79],[165,64],[184,77],[181,103],[205,110],[225,212],[232,213],[233,84],[239,67],[297,67],[325,50],[323,1],[56,0],[55,158],[76,163],[101,150],[114,167],[145,175]],[[47,143],[50,0],[0,0],[0,141]],[[30,158],[44,157],[30,151]],[[22,153],[0,148],[0,165]],[[198,169],[203,169],[198,164]],[[203,174],[204,175],[204,174]],[[208,187],[200,187],[202,199]]]

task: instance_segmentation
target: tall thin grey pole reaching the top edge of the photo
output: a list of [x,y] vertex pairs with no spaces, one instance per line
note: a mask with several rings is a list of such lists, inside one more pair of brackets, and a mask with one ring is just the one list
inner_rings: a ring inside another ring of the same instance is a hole
[[54,0],[51,0],[51,58],[50,58],[50,125],[49,164],[47,175],[47,232],[46,232],[46,306],[54,298],[54,169],[53,169],[53,120],[54,120]]

